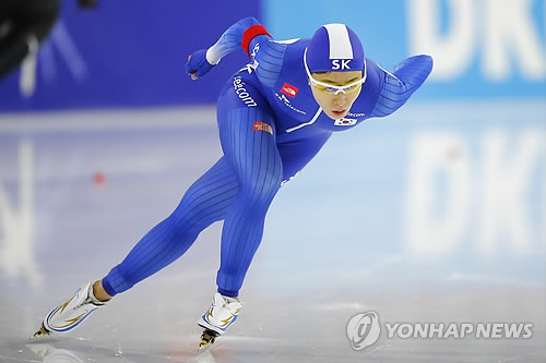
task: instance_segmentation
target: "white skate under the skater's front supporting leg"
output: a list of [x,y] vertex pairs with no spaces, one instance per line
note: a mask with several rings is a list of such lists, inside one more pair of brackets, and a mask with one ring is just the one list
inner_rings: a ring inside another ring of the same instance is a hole
[[199,349],[209,348],[214,343],[216,338],[235,323],[241,307],[239,299],[224,297],[216,292],[212,299],[212,306],[198,323],[200,327],[204,328]]

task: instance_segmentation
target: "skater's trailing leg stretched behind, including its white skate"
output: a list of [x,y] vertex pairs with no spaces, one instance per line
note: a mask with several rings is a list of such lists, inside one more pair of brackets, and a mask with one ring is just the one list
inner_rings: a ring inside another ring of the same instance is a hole
[[87,282],[44,319],[35,337],[69,331],[117,293],[180,257],[199,233],[223,219],[238,193],[235,173],[221,158],[186,192],[176,210],[153,228],[103,280]]

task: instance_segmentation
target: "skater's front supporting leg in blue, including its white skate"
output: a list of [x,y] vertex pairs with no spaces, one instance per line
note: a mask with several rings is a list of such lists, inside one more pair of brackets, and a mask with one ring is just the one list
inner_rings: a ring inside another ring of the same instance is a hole
[[202,347],[209,346],[237,319],[241,307],[237,295],[260,245],[265,214],[283,177],[273,113],[250,83],[244,85],[257,106],[244,104],[233,86],[224,88],[225,94],[218,101],[222,148],[237,176],[239,193],[222,230],[218,292],[199,323],[205,328]]

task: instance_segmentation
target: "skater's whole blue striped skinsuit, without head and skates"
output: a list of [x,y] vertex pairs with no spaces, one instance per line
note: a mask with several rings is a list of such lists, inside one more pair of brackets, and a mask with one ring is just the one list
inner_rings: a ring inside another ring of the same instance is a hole
[[[247,17],[209,49],[219,61],[236,50],[244,34],[259,25]],[[223,87],[217,122],[224,156],[186,192],[176,210],[154,227],[103,280],[110,295],[130,289],[179,258],[199,233],[224,220],[218,291],[236,297],[260,245],[266,211],[283,182],[301,170],[332,132],[366,119],[385,117],[404,105],[432,69],[429,56],[404,60],[392,73],[367,59],[367,80],[343,119],[332,120],[314,100],[304,66],[309,39],[275,41],[254,36],[250,63]],[[204,52],[192,55],[193,70],[206,69]],[[199,72],[198,72],[199,74]]]

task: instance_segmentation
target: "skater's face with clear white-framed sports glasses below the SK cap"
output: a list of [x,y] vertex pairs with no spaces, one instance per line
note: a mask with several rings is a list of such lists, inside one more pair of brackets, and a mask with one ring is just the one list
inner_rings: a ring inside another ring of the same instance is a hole
[[333,120],[344,118],[348,113],[363,89],[363,83],[359,82],[363,78],[361,71],[321,72],[312,73],[311,76],[309,86],[314,100]]

